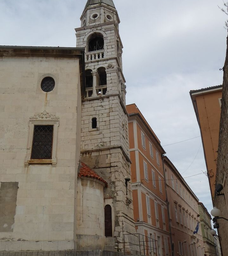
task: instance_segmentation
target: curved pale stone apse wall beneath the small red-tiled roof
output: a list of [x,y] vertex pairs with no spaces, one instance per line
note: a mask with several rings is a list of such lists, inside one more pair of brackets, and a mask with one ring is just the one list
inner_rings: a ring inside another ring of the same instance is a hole
[[78,250],[104,249],[105,210],[103,183],[91,178],[78,178],[77,208],[76,248]]

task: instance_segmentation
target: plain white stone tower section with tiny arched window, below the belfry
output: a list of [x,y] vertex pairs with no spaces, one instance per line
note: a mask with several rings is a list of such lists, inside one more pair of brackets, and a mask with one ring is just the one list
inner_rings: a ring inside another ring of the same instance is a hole
[[[98,128],[92,129],[91,120],[97,118]],[[118,96],[84,101],[81,121],[81,149],[121,145],[129,153],[127,117]],[[91,126],[91,127],[90,127]]]

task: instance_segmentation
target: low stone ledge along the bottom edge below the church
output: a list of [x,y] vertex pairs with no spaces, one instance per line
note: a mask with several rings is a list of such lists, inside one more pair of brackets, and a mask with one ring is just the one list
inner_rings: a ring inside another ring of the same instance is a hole
[[104,251],[104,250],[20,251],[20,252],[1,251],[0,256],[124,256],[124,253]]

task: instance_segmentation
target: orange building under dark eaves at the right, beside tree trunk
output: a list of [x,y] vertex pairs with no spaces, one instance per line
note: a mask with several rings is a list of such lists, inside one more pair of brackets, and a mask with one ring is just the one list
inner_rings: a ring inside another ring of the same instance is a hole
[[212,200],[215,192],[222,85],[190,91],[204,149]]

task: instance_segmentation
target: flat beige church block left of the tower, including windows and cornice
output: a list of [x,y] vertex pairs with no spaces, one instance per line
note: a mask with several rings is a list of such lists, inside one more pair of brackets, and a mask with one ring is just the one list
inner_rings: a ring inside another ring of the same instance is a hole
[[0,47],[0,251],[74,248],[83,57]]

